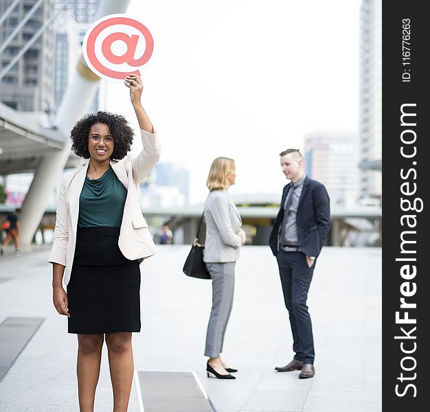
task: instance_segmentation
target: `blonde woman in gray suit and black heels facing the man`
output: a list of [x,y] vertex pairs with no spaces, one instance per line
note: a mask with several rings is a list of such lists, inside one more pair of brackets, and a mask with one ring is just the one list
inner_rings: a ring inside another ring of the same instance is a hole
[[228,189],[236,183],[236,165],[233,159],[218,157],[211,165],[206,185],[210,190],[205,203],[206,240],[205,258],[212,277],[212,310],[207,325],[205,356],[209,356],[207,376],[235,379],[231,369],[220,358],[225,329],[229,321],[234,294],[234,266],[239,248],[247,237],[242,219],[229,195]]

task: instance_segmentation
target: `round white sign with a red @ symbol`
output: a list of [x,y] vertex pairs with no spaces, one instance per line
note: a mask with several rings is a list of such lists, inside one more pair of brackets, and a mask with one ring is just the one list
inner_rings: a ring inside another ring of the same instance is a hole
[[[122,82],[152,56],[154,41],[146,26],[126,14],[110,14],[95,21],[82,44],[85,62],[101,78]],[[141,91],[142,93],[142,91]]]

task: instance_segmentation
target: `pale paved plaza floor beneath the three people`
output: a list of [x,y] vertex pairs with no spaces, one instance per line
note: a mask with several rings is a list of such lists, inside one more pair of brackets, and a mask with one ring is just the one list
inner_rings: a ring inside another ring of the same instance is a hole
[[[308,297],[316,374],[306,380],[298,379],[298,371],[274,370],[293,353],[269,247],[244,247],[236,266],[223,353],[229,366],[239,369],[235,380],[206,376],[210,281],[183,275],[188,246],[158,249],[141,265],[142,332],[133,334],[133,349],[142,376],[144,371],[195,371],[218,412],[382,410],[381,249],[323,249]],[[1,412],[79,410],[76,336],[67,334],[67,320],[52,306],[48,255],[47,249],[24,250],[20,257],[0,258],[0,323],[8,317],[45,319],[0,381]],[[141,412],[139,396],[133,385],[129,412]],[[95,405],[95,412],[112,409],[106,350]]]

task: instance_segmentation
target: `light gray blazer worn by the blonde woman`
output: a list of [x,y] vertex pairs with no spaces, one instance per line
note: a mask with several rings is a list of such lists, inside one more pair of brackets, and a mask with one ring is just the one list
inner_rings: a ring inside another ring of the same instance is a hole
[[205,262],[236,262],[242,238],[242,219],[227,190],[212,190],[205,203]]

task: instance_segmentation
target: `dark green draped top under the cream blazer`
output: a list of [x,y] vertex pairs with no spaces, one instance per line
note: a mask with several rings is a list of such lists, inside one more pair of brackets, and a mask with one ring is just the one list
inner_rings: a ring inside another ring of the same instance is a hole
[[127,190],[109,167],[98,179],[85,176],[78,227],[121,227]]

